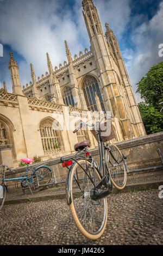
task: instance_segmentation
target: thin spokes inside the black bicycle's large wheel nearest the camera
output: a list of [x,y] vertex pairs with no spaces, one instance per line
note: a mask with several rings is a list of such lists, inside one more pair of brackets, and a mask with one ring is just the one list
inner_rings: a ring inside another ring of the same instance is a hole
[[[82,160],[80,160],[82,161]],[[82,168],[81,168],[82,164]],[[87,169],[89,176],[84,172]],[[78,179],[77,179],[78,176]],[[91,179],[90,179],[91,177]],[[106,203],[105,199],[101,199],[99,204],[94,205],[91,197],[90,191],[95,187],[95,180],[98,184],[101,180],[97,170],[94,173],[94,169],[90,167],[90,164],[86,166],[85,161],[80,163],[80,166],[77,165],[73,172],[72,180],[72,197],[73,197],[73,209],[76,212],[77,218],[74,220],[79,221],[79,225],[89,233],[89,234],[98,234],[99,231],[103,228],[104,220],[106,217]],[[92,184],[93,182],[93,184]],[[83,187],[83,193],[82,193]],[[74,198],[74,194],[79,192],[77,198]]]

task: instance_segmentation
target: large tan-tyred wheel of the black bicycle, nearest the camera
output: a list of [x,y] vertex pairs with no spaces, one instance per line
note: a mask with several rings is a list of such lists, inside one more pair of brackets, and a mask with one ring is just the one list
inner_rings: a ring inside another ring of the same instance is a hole
[[107,199],[94,201],[90,197],[95,180],[97,185],[101,177],[96,168],[94,172],[89,161],[83,159],[74,164],[70,176],[70,210],[80,232],[92,240],[102,236],[108,218]]

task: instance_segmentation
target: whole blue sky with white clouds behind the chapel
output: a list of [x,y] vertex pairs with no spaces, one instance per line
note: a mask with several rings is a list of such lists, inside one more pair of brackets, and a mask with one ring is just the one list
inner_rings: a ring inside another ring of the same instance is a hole
[[[163,61],[163,0],[94,0],[105,33],[105,22],[117,36],[129,78],[136,83],[152,65]],[[72,56],[90,47],[82,0],[0,0],[0,86],[6,82],[11,92],[9,52],[19,66],[22,86],[31,81],[30,63],[36,77],[48,70],[46,52],[53,68],[66,60],[64,40]],[[140,95],[136,95],[140,101]]]

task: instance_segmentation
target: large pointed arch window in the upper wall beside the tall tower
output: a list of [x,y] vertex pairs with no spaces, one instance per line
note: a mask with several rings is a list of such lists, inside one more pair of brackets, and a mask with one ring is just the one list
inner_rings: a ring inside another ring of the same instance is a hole
[[95,101],[95,94],[99,97],[102,111],[105,112],[104,103],[102,100],[101,92],[99,90],[97,80],[92,76],[87,76],[83,82],[83,92],[87,105],[87,109],[90,111],[97,111],[97,105]]

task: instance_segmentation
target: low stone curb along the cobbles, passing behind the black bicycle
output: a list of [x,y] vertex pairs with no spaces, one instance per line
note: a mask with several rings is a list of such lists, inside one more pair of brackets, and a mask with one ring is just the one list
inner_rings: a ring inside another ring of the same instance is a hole
[[[134,192],[145,191],[149,189],[158,189],[160,185],[163,185],[163,180],[128,184],[126,185],[125,188],[123,188],[123,190],[117,190],[117,188],[114,188],[111,194],[126,193],[126,192],[134,193]],[[22,204],[22,203],[29,203],[29,202],[41,202],[41,201],[54,200],[54,199],[66,199],[66,193],[61,192],[59,194],[46,194],[45,196],[37,195],[31,198],[26,197],[26,198],[9,199],[9,200],[5,200],[4,205]]]

